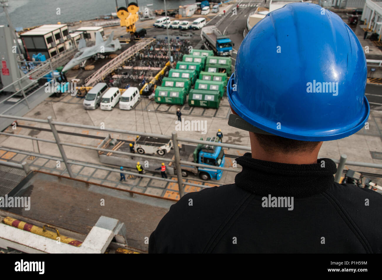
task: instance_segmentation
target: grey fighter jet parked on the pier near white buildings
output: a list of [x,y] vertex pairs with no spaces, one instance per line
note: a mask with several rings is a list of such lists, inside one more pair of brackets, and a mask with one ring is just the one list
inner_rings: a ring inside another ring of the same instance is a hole
[[103,55],[103,53],[115,52],[116,50],[121,49],[121,44],[119,40],[113,40],[113,35],[114,32],[112,32],[107,38],[107,40],[104,41],[100,32],[95,33],[95,45],[92,47],[86,47],[85,39],[79,40],[79,52],[76,53],[74,57],[70,60],[70,62],[68,62],[64,66],[62,72],[68,71],[80,63],[82,63],[82,66],[84,66],[88,58],[104,58],[105,56]]

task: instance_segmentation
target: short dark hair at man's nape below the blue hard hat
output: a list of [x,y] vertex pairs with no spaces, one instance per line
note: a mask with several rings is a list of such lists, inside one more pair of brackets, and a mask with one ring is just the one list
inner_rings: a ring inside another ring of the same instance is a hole
[[282,152],[283,154],[311,152],[316,149],[319,142],[300,141],[276,135],[254,133],[260,146],[270,154]]

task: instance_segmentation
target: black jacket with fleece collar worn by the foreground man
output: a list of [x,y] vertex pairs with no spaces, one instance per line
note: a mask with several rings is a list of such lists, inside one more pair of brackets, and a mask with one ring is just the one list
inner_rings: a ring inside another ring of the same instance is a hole
[[150,253],[382,252],[382,196],[335,183],[332,160],[297,165],[246,153],[236,162],[243,171],[234,184],[188,193],[170,207]]

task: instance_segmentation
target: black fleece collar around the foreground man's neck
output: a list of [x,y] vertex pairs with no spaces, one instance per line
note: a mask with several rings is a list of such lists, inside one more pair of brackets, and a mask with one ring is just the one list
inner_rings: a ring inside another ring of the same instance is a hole
[[260,196],[314,196],[333,185],[337,172],[336,164],[327,158],[314,164],[289,164],[253,159],[245,153],[236,162],[243,167],[235,177],[236,186]]

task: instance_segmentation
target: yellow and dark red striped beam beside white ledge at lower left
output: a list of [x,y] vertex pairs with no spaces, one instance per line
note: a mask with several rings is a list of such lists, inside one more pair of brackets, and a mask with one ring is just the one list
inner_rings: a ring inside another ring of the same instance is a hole
[[70,245],[73,245],[76,247],[79,247],[82,244],[81,241],[75,240],[73,238],[69,238],[67,236],[60,235],[58,230],[57,231],[47,230],[46,229],[47,225],[45,225],[45,231],[44,231],[44,229],[41,227],[37,227],[37,226],[32,225],[30,223],[26,223],[26,222],[23,222],[23,221],[20,221],[20,220],[11,218],[11,217],[5,217],[3,219],[3,223],[5,223],[6,225],[10,225],[12,227],[15,227],[15,228],[19,228],[21,230],[29,231],[31,233],[45,236],[46,238],[57,240],[57,241],[60,241],[62,243],[70,244]]

